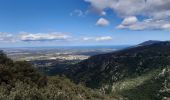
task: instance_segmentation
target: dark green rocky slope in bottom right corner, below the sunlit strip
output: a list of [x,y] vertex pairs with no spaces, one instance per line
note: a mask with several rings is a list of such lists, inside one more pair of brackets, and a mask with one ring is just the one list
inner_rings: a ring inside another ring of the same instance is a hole
[[165,68],[150,80],[135,88],[122,91],[120,94],[130,100],[169,100],[170,68]]

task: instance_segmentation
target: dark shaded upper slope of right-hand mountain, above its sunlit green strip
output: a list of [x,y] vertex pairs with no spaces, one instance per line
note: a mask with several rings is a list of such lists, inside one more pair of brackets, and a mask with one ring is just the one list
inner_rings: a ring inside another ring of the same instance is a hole
[[170,42],[160,42],[92,56],[70,68],[69,76],[96,87],[170,65],[169,57]]

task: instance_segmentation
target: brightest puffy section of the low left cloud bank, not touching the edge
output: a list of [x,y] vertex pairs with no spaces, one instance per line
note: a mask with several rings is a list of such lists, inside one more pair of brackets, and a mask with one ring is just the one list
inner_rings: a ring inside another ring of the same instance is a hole
[[53,33],[21,33],[19,38],[21,41],[53,41],[53,40],[66,40],[70,36],[53,32]]

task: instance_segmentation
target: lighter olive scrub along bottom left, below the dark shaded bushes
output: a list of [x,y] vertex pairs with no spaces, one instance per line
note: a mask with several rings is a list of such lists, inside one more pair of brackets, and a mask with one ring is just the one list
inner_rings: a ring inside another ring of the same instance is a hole
[[9,90],[8,84],[0,86],[0,100],[115,100],[94,92],[81,85],[75,85],[64,77],[52,77],[46,86],[39,88],[18,81]]

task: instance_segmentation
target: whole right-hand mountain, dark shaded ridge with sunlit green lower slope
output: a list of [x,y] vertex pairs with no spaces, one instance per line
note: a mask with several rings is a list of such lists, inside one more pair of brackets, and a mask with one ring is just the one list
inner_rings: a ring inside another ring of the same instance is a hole
[[92,56],[65,72],[76,83],[129,100],[170,97],[170,42],[146,41],[135,47]]

